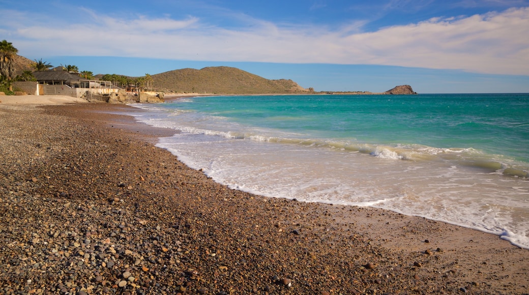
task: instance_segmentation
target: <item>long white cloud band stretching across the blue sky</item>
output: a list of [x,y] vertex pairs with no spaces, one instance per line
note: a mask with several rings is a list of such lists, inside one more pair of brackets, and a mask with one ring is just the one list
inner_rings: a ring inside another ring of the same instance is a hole
[[[25,25],[17,14],[10,42],[33,56],[387,64],[529,75],[529,8],[435,18],[369,33],[359,31],[361,21],[331,31],[254,20],[235,30],[209,26],[193,16],[116,19],[86,12],[90,22],[66,25]],[[0,21],[0,28],[8,22]]]

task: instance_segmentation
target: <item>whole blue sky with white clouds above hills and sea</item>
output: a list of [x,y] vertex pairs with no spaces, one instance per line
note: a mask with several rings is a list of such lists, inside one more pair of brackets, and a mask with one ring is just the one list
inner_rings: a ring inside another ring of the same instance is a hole
[[29,59],[143,76],[231,66],[317,91],[529,93],[529,0],[0,0]]

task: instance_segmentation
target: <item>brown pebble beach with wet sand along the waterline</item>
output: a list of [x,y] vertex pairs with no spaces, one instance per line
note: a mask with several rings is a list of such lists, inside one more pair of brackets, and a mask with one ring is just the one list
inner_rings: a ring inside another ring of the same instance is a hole
[[[0,293],[527,294],[527,250],[391,211],[229,189],[126,105],[0,97]],[[70,104],[72,103],[72,104]]]

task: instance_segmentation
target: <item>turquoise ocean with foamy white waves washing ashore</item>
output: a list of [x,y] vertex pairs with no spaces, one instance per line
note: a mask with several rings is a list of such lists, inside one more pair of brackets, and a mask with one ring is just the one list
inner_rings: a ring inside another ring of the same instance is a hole
[[[370,206],[529,248],[529,94],[188,97],[157,146],[257,195]],[[178,133],[177,133],[178,132]]]

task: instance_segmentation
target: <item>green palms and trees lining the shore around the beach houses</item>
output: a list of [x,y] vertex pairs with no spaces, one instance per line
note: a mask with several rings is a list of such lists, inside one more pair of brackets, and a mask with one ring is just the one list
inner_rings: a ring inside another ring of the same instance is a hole
[[[34,71],[46,71],[53,66],[47,62],[40,60],[34,60],[35,62],[31,64],[32,70],[24,70],[21,75],[16,75],[15,73],[15,64],[14,60],[19,52],[13,46],[13,43],[2,40],[0,42],[0,91],[4,91],[6,94],[12,94],[12,82],[14,81],[37,81],[33,76]],[[94,73],[92,71],[79,71],[79,68],[73,64],[65,64],[64,66],[60,65],[63,70],[68,72],[76,73],[79,77],[94,80]],[[114,86],[117,87],[126,87],[126,86],[135,86],[141,89],[146,89],[147,91],[152,90],[153,79],[148,73],[144,77],[127,77],[123,75],[116,74],[106,74],[101,78],[103,81],[111,81]]]

